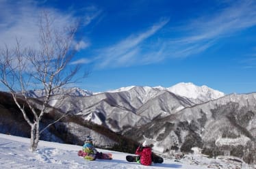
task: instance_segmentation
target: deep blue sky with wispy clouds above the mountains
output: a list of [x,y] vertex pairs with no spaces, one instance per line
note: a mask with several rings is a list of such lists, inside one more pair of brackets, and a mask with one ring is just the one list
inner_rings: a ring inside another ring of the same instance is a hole
[[0,0],[1,42],[15,35],[31,44],[43,9],[60,26],[81,22],[72,62],[90,70],[81,89],[192,82],[226,94],[256,91],[256,1]]

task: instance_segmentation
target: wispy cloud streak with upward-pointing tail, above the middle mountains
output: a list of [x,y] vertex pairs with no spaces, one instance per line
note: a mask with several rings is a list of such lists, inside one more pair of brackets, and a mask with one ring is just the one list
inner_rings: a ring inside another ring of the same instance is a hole
[[[99,63],[97,67],[122,67],[153,62],[152,59],[155,59],[153,52],[142,52],[144,50],[142,45],[147,38],[154,35],[159,29],[162,29],[168,22],[169,19],[164,19],[142,33],[130,35],[113,46],[103,48],[99,51],[99,57],[97,57]],[[152,46],[150,48],[153,50]],[[159,49],[156,51],[159,51]],[[149,59],[149,57],[152,58]]]

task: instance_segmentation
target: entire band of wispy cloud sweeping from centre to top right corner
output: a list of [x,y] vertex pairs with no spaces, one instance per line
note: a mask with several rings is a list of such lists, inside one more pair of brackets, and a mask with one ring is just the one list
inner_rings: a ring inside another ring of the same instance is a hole
[[[103,48],[97,53],[97,66],[127,67],[199,55],[223,38],[256,25],[256,1],[225,1],[219,6],[215,13],[199,18],[188,16],[180,25],[172,25],[172,22],[167,25],[169,20],[162,20],[142,33],[130,35],[113,46]],[[149,44],[147,39],[163,27],[169,32],[159,35],[155,44]]]

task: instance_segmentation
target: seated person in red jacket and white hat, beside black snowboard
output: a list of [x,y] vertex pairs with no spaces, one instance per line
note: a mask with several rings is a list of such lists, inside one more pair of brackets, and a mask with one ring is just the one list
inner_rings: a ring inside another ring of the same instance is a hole
[[140,145],[136,150],[136,155],[139,157],[136,158],[136,161],[142,165],[150,166],[152,163],[152,150],[149,147],[149,144],[146,140],[144,140],[142,146]]

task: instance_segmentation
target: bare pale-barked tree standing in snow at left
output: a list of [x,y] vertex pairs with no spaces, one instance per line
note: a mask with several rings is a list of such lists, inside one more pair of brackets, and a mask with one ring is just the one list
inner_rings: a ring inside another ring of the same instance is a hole
[[[75,82],[73,78],[79,67],[70,65],[75,56],[74,38],[77,25],[60,30],[54,27],[54,20],[43,12],[39,21],[38,46],[23,48],[16,39],[14,48],[5,45],[0,50],[0,80],[12,94],[25,121],[31,127],[31,151],[36,151],[40,138],[40,121],[47,112],[47,104],[56,89]],[[27,91],[34,87],[44,89],[40,111],[36,110]],[[25,105],[18,102],[23,97],[33,118],[28,117]]]

